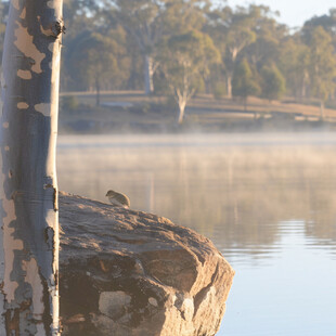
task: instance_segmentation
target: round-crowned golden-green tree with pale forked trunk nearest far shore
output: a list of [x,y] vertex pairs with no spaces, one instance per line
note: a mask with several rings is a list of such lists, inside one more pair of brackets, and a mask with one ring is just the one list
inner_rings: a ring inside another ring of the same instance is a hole
[[219,60],[210,37],[199,31],[172,36],[161,46],[160,68],[179,105],[179,124],[183,122],[186,103],[199,86],[202,73]]

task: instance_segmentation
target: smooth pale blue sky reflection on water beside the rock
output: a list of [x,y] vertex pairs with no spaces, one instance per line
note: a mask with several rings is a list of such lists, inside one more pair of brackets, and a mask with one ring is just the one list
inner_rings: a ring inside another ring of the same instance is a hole
[[272,262],[237,264],[218,336],[335,335],[335,260],[316,242],[308,248],[305,221],[279,228]]

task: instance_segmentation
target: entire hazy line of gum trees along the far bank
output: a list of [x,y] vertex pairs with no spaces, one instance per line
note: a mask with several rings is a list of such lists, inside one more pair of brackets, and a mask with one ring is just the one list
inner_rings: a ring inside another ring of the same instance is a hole
[[196,92],[245,105],[250,95],[314,98],[323,117],[335,94],[336,10],[296,29],[277,16],[209,0],[66,0],[61,90],[170,94],[180,121]]

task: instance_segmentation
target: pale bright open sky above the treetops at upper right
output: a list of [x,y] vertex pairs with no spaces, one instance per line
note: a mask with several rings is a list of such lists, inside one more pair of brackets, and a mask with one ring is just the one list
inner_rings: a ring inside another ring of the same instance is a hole
[[336,8],[335,0],[228,0],[228,3],[232,7],[266,4],[271,10],[279,11],[281,13],[279,22],[289,27],[302,26],[305,21],[312,16],[327,14],[331,8]]

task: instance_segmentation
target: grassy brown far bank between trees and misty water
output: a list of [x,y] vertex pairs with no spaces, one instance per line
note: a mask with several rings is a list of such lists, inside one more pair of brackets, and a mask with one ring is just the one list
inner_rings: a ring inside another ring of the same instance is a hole
[[[315,102],[268,102],[215,100],[197,95],[191,100],[182,125],[177,125],[177,106],[164,96],[145,96],[140,91],[103,92],[100,105],[93,93],[63,93],[61,133],[170,133],[236,131],[336,130],[336,109],[326,108],[321,118]],[[309,103],[309,104],[308,104]]]

